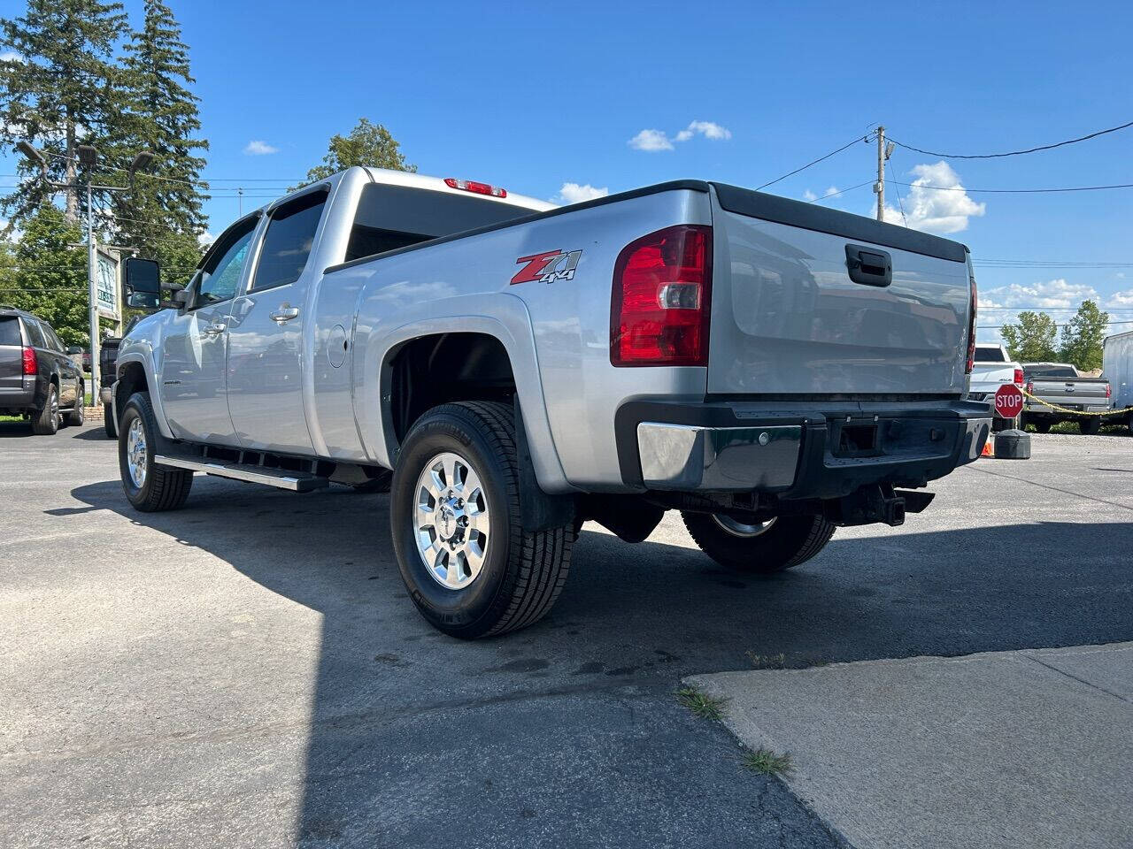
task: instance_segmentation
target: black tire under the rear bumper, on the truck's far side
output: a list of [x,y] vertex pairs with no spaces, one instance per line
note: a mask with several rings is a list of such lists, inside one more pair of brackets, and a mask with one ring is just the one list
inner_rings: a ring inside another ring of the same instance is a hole
[[756,575],[773,575],[806,563],[834,535],[821,516],[780,516],[766,530],[740,535],[710,513],[682,512],[684,526],[700,550],[721,566]]

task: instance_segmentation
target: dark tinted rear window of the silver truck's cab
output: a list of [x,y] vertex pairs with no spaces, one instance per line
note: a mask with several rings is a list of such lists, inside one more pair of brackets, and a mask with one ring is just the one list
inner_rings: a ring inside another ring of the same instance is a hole
[[501,204],[474,195],[370,183],[363,188],[355,213],[346,260],[502,224],[533,209]]

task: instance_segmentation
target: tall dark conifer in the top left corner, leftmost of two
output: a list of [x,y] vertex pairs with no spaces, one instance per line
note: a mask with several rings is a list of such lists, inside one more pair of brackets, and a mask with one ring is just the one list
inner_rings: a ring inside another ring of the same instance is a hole
[[[120,119],[121,74],[111,58],[126,31],[121,3],[102,0],[27,0],[23,17],[0,18],[0,48],[17,57],[0,61],[0,142],[32,142],[49,154],[51,178],[74,185],[78,145],[105,137]],[[27,161],[17,168],[23,177],[39,172]],[[22,180],[0,198],[8,230],[52,194],[42,180]],[[85,198],[74,188],[65,195],[76,222]]]

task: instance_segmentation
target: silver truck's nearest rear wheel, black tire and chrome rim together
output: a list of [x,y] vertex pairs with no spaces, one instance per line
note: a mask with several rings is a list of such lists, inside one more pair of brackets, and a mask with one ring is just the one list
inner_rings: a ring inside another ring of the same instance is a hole
[[[475,638],[527,627],[566,581],[573,516],[525,530],[511,406],[445,404],[402,445],[390,489],[393,549],[417,609],[435,628]],[[537,490],[525,492],[543,513]]]

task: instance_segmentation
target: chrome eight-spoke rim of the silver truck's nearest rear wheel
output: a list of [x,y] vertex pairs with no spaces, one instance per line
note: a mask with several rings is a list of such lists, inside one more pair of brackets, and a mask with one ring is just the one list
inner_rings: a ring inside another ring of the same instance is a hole
[[428,574],[463,590],[484,568],[491,542],[488,497],[479,475],[459,454],[437,454],[417,479],[414,538]]

